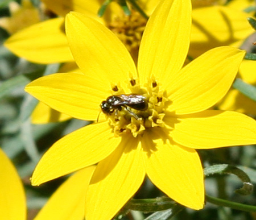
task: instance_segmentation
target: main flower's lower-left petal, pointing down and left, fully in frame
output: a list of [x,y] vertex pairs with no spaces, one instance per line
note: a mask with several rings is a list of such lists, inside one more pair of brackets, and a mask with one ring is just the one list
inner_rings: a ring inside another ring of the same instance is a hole
[[121,138],[114,138],[108,122],[90,124],[55,142],[43,155],[32,175],[32,185],[98,163],[109,156]]

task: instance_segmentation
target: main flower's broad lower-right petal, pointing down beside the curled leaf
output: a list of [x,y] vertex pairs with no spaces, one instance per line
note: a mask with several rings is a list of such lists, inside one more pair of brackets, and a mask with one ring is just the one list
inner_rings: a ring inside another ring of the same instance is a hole
[[[197,152],[169,140],[155,139],[152,134],[143,136],[146,173],[160,190],[181,205],[191,209],[203,209],[204,176]],[[151,146],[150,146],[151,145]]]

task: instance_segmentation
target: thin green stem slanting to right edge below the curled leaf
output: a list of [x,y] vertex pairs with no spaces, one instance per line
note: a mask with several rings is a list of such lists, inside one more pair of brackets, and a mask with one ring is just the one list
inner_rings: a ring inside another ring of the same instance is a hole
[[222,200],[221,198],[216,198],[208,195],[205,195],[205,197],[207,198],[207,202],[210,202],[211,204],[214,204],[214,205],[230,207],[232,209],[237,209],[241,211],[249,211],[249,212],[256,211],[256,206],[253,206],[253,205],[244,205],[237,202],[230,202],[228,200]]

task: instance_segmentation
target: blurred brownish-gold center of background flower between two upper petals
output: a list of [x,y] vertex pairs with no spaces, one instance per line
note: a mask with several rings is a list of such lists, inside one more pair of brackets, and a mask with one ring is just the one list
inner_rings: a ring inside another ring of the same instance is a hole
[[131,10],[131,15],[115,16],[107,27],[126,45],[134,61],[137,61],[139,44],[147,20],[137,11]]

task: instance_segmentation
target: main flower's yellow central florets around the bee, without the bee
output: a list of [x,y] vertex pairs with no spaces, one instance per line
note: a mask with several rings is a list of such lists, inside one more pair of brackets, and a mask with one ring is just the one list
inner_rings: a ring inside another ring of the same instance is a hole
[[[143,135],[147,129],[154,127],[165,127],[164,116],[170,101],[167,98],[166,91],[160,89],[160,86],[154,78],[148,80],[144,86],[138,84],[137,80],[131,78],[128,82],[130,93],[143,96],[147,102],[146,110],[137,110],[129,105],[121,105],[112,113],[106,114],[110,127],[116,136],[123,134],[132,134],[134,137]],[[119,85],[112,87],[112,96],[123,95],[123,89]]]

